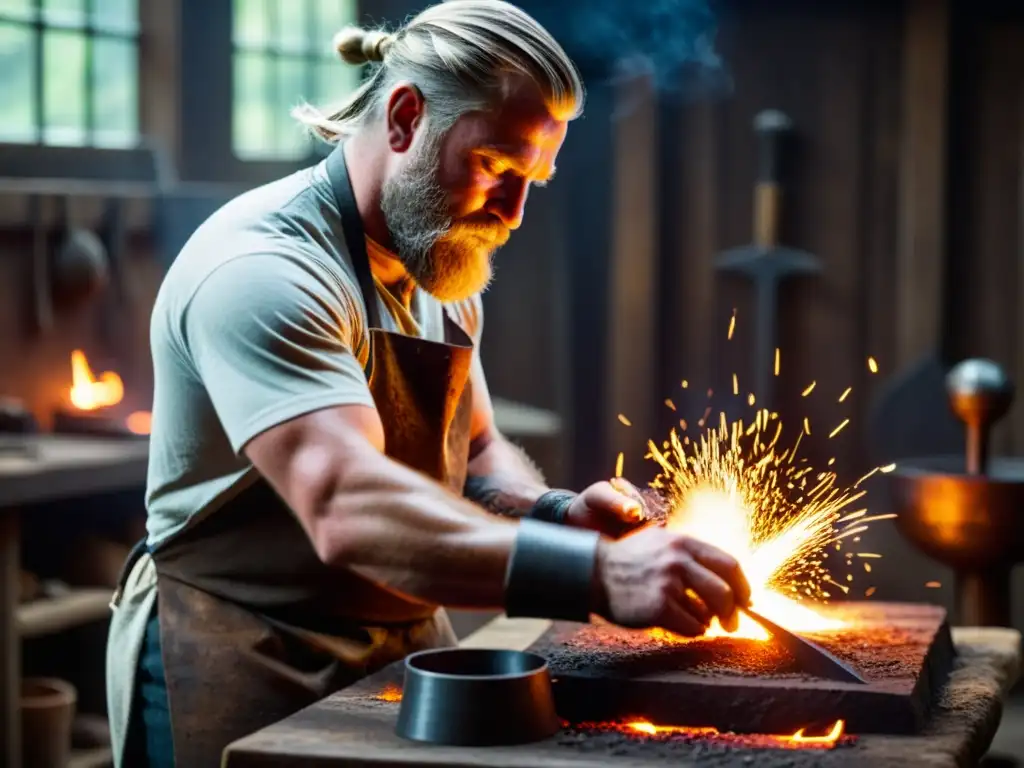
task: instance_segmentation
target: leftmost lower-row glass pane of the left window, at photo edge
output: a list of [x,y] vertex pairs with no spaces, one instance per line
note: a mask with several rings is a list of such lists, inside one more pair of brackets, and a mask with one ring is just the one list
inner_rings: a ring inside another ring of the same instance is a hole
[[0,141],[35,141],[36,35],[0,24]]

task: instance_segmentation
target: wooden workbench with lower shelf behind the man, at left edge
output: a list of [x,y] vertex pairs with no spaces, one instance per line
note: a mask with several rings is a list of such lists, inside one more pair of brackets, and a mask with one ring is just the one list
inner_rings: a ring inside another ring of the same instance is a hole
[[57,435],[0,440],[0,765],[22,764],[20,642],[105,614],[111,595],[73,591],[19,606],[25,507],[145,485],[148,441]]

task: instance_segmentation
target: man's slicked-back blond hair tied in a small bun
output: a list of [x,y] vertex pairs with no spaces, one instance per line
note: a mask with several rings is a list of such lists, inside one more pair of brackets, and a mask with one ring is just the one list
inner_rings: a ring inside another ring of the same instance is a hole
[[334,39],[349,65],[371,63],[370,76],[340,104],[302,104],[292,115],[327,141],[357,131],[380,114],[391,88],[420,89],[433,130],[446,130],[467,112],[500,100],[508,75],[536,82],[559,117],[583,112],[580,73],[562,47],[536,19],[502,0],[450,0],[433,5],[396,32],[346,27]]

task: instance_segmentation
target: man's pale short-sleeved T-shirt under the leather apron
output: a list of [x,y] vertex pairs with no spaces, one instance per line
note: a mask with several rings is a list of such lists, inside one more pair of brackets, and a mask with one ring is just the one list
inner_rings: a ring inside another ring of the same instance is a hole
[[[368,241],[371,259],[374,249]],[[414,289],[407,308],[375,282],[385,330],[443,341],[440,302]],[[478,345],[479,296],[449,308]],[[151,546],[256,480],[243,447],[259,433],[319,409],[374,406],[366,314],[323,162],[242,195],[197,229],[151,324]]]

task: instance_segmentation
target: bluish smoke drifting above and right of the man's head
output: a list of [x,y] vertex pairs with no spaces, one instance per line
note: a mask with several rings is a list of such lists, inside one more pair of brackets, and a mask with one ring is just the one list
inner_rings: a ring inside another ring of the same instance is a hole
[[720,96],[732,81],[715,50],[709,0],[521,0],[588,84],[645,75],[663,96]]

